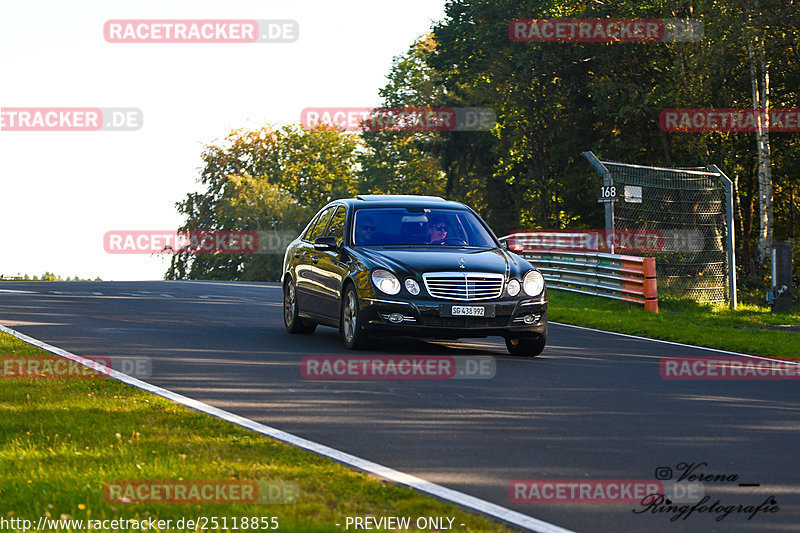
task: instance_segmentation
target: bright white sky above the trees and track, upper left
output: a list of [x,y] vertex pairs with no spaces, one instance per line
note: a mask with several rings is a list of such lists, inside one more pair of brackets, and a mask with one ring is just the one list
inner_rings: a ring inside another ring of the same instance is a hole
[[[115,230],[175,230],[203,147],[306,107],[372,107],[392,58],[445,0],[0,4],[0,112],[135,108],[132,131],[0,129],[0,274],[162,279],[165,255],[110,254]],[[107,42],[110,20],[290,20],[286,43]]]

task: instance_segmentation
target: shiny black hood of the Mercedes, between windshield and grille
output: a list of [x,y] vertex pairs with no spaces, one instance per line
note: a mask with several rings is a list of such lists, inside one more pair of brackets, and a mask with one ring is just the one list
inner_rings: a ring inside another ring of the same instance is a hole
[[502,248],[370,246],[359,247],[358,254],[375,267],[407,274],[464,271],[518,276],[532,268],[527,261]]

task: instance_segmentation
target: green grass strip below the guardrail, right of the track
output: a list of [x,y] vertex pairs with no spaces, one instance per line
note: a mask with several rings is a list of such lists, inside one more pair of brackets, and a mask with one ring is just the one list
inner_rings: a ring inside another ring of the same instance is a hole
[[779,359],[800,360],[800,305],[788,312],[744,303],[722,305],[659,299],[659,313],[641,305],[566,291],[548,291],[548,318],[577,326],[706,346]]

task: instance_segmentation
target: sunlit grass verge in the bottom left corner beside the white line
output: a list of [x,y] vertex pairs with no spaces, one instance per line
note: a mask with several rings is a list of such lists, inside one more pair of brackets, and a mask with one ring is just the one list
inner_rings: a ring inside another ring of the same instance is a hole
[[[0,356],[51,357],[5,333]],[[347,516],[371,515],[411,517],[412,524],[418,517],[452,517],[460,531],[511,531],[113,379],[0,379],[0,413],[0,519],[170,519],[176,525],[205,516],[219,525],[206,530],[242,531],[253,528],[232,527],[234,517],[276,517],[282,531],[322,532],[342,531],[335,524]],[[107,502],[105,484],[123,480],[282,480],[296,482],[299,496],[282,505]],[[57,530],[86,531],[86,524]]]

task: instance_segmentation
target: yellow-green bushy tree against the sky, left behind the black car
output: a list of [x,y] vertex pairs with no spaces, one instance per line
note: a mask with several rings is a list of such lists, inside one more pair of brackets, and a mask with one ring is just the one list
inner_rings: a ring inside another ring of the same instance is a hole
[[[359,138],[330,128],[297,126],[235,130],[207,146],[200,183],[205,191],[176,204],[180,231],[251,230],[299,233],[334,198],[355,192]],[[172,256],[166,279],[274,281],[283,256],[192,254]]]

